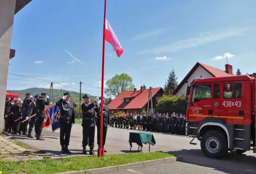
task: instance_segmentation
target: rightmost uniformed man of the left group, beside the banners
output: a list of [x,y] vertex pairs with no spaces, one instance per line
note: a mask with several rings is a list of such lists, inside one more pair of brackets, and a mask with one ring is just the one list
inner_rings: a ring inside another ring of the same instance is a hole
[[44,140],[41,138],[42,126],[44,124],[44,119],[46,115],[44,113],[45,106],[49,105],[49,97],[47,93],[41,93],[41,96],[38,97],[35,101],[35,107],[37,108],[37,120],[35,121],[35,138],[37,140]]

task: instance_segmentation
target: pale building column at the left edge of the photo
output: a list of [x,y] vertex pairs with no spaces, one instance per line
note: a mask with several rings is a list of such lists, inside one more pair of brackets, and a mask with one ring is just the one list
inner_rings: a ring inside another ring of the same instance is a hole
[[0,1],[0,133],[3,131],[5,121],[5,91],[10,56],[10,39],[15,15],[16,0]]

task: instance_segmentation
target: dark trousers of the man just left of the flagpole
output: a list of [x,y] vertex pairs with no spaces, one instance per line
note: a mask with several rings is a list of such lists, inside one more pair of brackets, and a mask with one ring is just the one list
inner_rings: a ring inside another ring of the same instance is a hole
[[94,147],[94,136],[95,136],[95,126],[83,126],[83,143],[82,146]]

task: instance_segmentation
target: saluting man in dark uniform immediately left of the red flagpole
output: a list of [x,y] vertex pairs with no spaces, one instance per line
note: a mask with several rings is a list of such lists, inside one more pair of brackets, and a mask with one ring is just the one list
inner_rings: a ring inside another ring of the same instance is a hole
[[97,108],[98,102],[94,101],[91,103],[89,95],[83,96],[84,103],[81,105],[81,110],[83,113],[83,154],[87,154],[86,146],[90,147],[90,155],[94,155],[94,136],[95,136],[95,109]]

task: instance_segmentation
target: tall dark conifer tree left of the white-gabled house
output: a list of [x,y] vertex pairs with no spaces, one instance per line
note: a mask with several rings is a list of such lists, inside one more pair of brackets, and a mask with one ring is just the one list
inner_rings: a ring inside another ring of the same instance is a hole
[[165,86],[163,87],[163,92],[165,93],[165,95],[172,95],[177,84],[178,83],[177,83],[177,77],[176,77],[175,71],[172,70],[169,74],[168,80],[165,83]]

